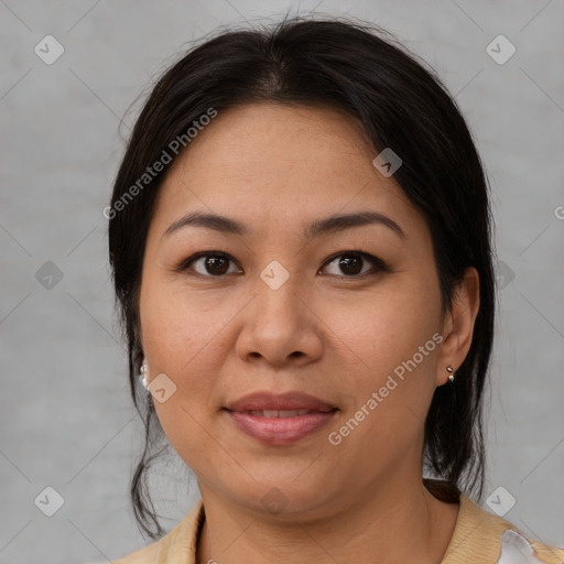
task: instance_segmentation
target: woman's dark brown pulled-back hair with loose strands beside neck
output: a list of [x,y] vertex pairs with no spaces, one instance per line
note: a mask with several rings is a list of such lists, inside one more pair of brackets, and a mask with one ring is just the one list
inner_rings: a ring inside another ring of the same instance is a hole
[[153,539],[163,533],[145,480],[162,451],[154,446],[163,433],[151,401],[139,393],[137,375],[143,356],[138,307],[143,253],[166,171],[133,191],[134,197],[127,196],[163,150],[210,108],[220,113],[262,101],[330,106],[361,123],[375,150],[391,148],[402,159],[394,180],[430,227],[443,313],[465,269],[477,269],[480,308],[471,347],[455,382],[434,392],[424,464],[451,491],[481,497],[481,404],[494,340],[495,282],[488,186],[471,135],[433,70],[388,33],[350,21],[294,18],[267,29],[221,30],[183,54],[150,94],[116,178],[108,208],[109,260],[131,394],[145,426],[145,446],[131,481],[140,528]]

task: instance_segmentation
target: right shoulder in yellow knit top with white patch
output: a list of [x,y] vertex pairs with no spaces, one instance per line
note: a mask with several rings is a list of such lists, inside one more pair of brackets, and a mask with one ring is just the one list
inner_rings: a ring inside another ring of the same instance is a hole
[[564,550],[535,541],[464,495],[443,564],[563,564]]

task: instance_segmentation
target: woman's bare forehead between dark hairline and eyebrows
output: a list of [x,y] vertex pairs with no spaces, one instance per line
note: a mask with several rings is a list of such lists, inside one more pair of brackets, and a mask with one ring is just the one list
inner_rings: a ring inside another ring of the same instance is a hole
[[421,221],[393,177],[373,166],[376,155],[360,124],[329,108],[232,108],[219,112],[172,164],[156,219],[171,221],[198,208],[290,228],[305,217],[373,209]]

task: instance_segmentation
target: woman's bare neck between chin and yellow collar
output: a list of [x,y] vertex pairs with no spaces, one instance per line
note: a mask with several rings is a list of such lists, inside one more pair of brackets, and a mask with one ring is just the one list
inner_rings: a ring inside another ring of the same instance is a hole
[[335,564],[441,562],[453,535],[457,503],[433,497],[421,478],[394,476],[323,518],[281,522],[220,498],[200,484],[206,520],[196,562]]

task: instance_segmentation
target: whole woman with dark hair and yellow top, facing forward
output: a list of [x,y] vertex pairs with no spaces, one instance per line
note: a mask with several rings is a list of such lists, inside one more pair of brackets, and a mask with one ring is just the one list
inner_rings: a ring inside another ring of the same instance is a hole
[[143,478],[164,433],[202,500],[120,563],[564,560],[469,498],[487,182],[440,80],[384,37],[221,33],[149,97],[106,210],[147,431],[132,498],[162,536]]

